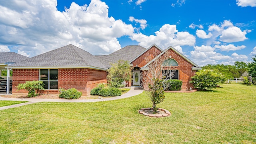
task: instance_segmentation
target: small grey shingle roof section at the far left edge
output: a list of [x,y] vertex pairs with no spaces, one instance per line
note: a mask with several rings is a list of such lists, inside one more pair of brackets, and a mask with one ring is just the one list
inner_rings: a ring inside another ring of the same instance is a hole
[[28,57],[15,52],[0,52],[0,64],[5,64],[6,62],[21,62],[26,59],[28,59]]

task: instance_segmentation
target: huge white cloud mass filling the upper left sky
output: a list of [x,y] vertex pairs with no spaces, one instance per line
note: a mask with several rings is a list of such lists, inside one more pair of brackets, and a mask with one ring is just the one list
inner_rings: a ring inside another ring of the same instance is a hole
[[[56,0],[1,1],[0,41],[18,45],[30,56],[74,44],[92,54],[109,54],[121,48],[117,38],[134,32],[131,24],[108,16],[100,0],[60,12]],[[93,49],[92,49],[93,48]]]

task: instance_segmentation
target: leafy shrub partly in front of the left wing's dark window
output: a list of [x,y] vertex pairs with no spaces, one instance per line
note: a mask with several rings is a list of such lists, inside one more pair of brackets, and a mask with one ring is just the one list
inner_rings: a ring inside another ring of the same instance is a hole
[[24,84],[18,84],[18,90],[28,90],[29,98],[40,95],[40,90],[44,90],[44,82],[39,80],[26,81]]

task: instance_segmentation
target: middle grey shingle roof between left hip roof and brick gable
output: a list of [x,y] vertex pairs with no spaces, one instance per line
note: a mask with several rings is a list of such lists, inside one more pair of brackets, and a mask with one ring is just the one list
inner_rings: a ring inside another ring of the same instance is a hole
[[131,61],[136,56],[144,52],[146,48],[142,46],[126,46],[120,50],[113,52],[106,56],[96,56],[107,68],[111,67],[111,63],[115,63],[118,60]]

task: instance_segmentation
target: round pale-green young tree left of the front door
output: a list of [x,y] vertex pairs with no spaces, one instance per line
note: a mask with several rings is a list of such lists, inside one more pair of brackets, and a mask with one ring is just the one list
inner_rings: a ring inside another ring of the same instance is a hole
[[111,64],[111,66],[107,70],[107,79],[113,87],[120,87],[122,85],[121,82],[131,80],[132,68],[128,61],[118,60],[118,62]]

